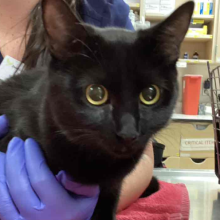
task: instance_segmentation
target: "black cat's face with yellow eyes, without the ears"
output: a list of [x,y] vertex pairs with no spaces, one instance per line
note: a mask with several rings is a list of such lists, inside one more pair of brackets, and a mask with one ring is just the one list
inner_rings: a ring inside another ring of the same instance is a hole
[[[156,63],[151,44],[137,40],[137,33],[96,31],[92,41],[86,41],[94,52],[76,55],[57,65],[53,79],[60,85],[63,83],[60,93],[66,94],[72,103],[68,107],[73,113],[72,121],[69,118],[72,127],[82,130],[69,131],[69,137],[74,140],[77,136],[79,145],[95,141],[116,157],[130,156],[143,149],[172,114],[177,96],[175,62],[169,66]],[[121,39],[108,40],[112,32]]]

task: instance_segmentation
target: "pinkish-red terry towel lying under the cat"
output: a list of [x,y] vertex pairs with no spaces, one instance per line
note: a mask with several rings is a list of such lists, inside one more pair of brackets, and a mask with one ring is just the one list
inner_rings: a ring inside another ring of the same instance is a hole
[[160,190],[139,199],[117,215],[117,220],[188,220],[189,195],[184,184],[160,182]]

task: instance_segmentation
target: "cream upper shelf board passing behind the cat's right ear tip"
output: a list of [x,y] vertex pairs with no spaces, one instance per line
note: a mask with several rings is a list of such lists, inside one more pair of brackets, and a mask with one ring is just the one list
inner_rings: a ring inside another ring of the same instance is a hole
[[[162,21],[167,18],[168,15],[165,14],[147,14],[146,15],[146,20],[148,21]],[[210,21],[214,20],[214,15],[194,15],[192,17],[193,19],[199,19],[199,20],[204,20],[205,23],[209,23]]]

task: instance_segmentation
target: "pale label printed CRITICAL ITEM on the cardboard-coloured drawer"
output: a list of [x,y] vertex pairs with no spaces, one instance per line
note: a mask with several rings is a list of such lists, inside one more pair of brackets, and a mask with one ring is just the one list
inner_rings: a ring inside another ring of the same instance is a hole
[[210,151],[214,148],[213,138],[181,139],[181,151]]

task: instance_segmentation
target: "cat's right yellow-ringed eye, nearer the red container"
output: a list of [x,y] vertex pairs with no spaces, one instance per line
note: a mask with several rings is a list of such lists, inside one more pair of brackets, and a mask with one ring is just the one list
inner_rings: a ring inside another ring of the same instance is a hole
[[140,100],[145,105],[153,105],[158,102],[160,98],[160,89],[158,86],[151,85],[144,89],[140,94]]

